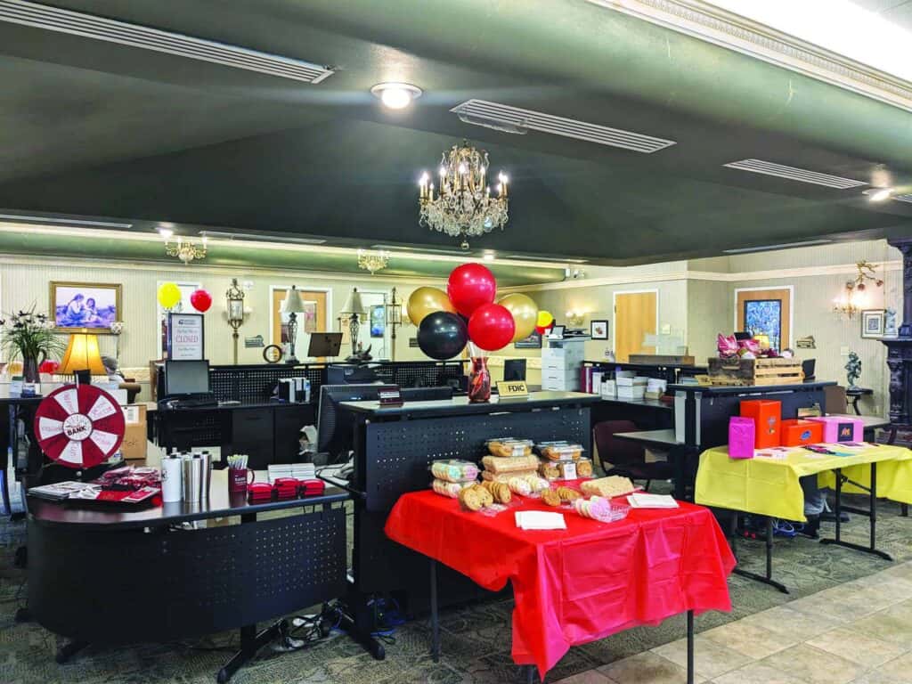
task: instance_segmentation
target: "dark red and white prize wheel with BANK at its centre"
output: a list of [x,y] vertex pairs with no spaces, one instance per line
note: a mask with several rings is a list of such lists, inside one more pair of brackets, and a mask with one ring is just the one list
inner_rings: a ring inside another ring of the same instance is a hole
[[124,433],[117,399],[93,385],[65,385],[38,404],[35,435],[48,458],[91,468],[118,450]]

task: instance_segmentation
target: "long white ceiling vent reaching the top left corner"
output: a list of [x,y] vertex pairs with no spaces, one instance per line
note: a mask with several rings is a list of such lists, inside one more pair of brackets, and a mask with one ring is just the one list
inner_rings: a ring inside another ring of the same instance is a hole
[[269,55],[246,47],[181,36],[157,28],[127,24],[101,16],[28,3],[24,0],[0,0],[0,21],[140,47],[306,83],[319,83],[333,74],[332,69],[298,59]]

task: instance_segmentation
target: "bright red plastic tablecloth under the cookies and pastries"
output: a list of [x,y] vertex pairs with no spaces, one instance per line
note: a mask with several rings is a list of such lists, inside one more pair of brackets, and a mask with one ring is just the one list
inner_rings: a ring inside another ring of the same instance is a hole
[[399,498],[390,539],[449,565],[492,591],[513,583],[513,660],[544,673],[571,646],[694,610],[731,610],[726,577],[735,565],[709,510],[631,510],[616,523],[565,513],[567,530],[523,531],[518,510],[488,517],[434,492]]

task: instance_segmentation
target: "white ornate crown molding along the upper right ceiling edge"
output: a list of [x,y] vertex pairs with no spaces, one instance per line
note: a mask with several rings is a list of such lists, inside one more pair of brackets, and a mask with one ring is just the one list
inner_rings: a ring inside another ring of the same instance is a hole
[[701,0],[586,0],[912,111],[912,84]]

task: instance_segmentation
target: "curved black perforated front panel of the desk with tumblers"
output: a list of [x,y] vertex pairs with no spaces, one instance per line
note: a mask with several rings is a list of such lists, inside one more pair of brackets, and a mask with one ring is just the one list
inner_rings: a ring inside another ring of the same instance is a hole
[[[342,596],[345,510],[170,532],[29,525],[29,607],[67,637],[199,636]],[[34,559],[34,561],[33,561]],[[66,572],[60,572],[65,567]],[[103,600],[98,600],[98,597]]]

